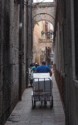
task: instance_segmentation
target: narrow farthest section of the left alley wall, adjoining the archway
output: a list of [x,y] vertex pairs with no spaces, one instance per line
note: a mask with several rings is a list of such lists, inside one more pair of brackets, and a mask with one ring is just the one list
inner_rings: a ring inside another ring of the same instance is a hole
[[26,34],[25,36],[26,36],[26,43],[25,43],[26,44],[26,47],[25,47],[26,49],[26,87],[28,87],[28,83],[29,83],[28,68],[30,66],[30,63],[32,62],[32,0],[26,0]]

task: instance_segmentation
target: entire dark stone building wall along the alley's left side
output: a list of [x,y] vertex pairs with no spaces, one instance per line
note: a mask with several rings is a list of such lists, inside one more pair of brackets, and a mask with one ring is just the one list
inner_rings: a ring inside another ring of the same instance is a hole
[[27,0],[0,0],[0,125],[27,87]]

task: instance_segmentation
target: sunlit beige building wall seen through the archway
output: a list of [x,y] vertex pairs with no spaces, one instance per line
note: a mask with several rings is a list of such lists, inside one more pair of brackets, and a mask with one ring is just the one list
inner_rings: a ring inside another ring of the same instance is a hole
[[33,31],[33,62],[37,62],[39,64],[41,64],[42,62],[42,60],[40,59],[41,56],[43,60],[46,60],[46,47],[52,48],[52,39],[41,37],[43,23],[45,25],[45,21],[38,22],[38,24],[34,26]]

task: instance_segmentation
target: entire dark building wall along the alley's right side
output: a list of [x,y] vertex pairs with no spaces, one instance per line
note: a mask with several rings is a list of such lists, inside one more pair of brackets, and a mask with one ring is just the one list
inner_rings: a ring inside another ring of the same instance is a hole
[[55,76],[66,125],[78,124],[78,2],[57,0],[54,33]]

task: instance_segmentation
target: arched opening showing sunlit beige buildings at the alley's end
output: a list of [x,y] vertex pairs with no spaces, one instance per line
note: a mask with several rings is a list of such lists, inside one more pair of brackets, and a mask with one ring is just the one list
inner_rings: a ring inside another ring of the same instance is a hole
[[[53,32],[53,24],[47,20],[38,21],[33,28],[33,62],[41,63],[45,60],[51,63],[47,58],[47,48],[52,50],[52,35],[47,34]],[[50,56],[51,52],[48,56]]]

